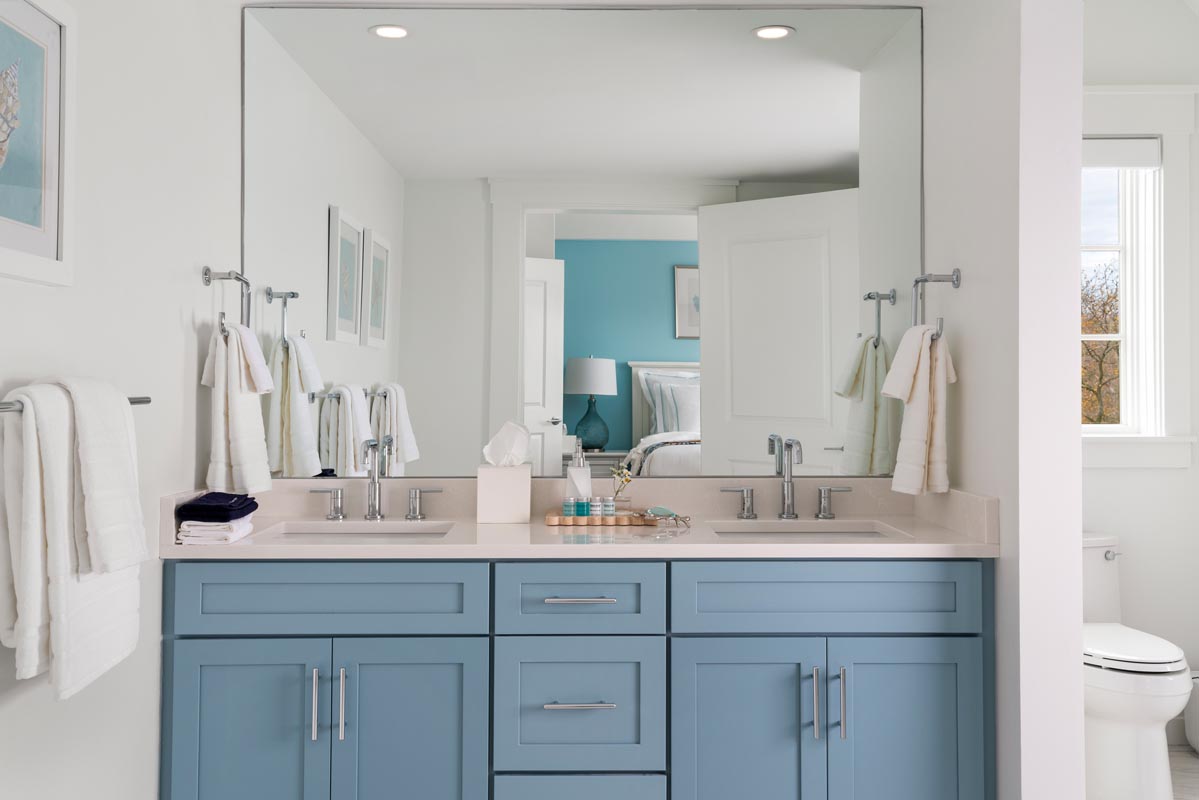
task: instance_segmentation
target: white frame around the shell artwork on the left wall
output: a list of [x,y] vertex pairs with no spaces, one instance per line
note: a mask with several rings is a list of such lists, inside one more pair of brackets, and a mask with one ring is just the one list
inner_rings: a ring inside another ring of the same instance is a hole
[[76,227],[76,112],[78,96],[79,26],[74,10],[64,0],[28,0],[62,28],[59,98],[59,257],[46,258],[0,247],[0,277],[68,287],[74,283]]

